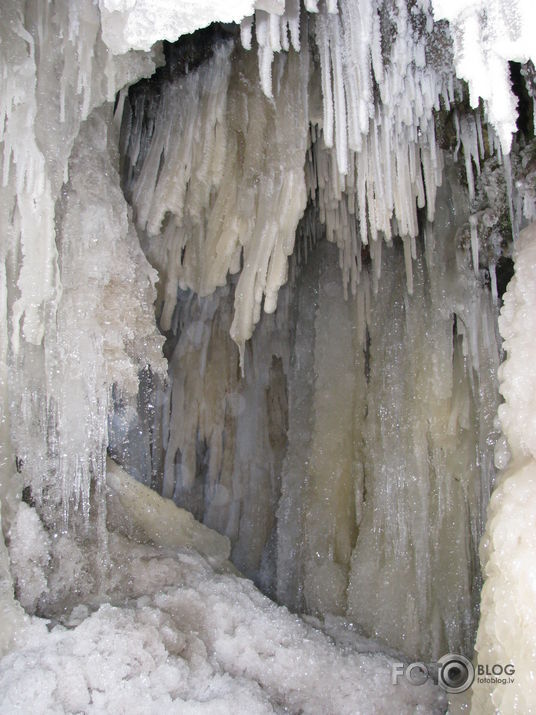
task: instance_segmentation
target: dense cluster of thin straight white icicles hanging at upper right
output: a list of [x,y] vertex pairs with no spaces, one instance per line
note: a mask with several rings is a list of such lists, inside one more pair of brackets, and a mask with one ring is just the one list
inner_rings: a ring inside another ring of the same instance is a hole
[[379,270],[378,239],[397,235],[404,240],[411,289],[417,209],[426,206],[433,220],[442,179],[434,112],[440,100],[447,109],[454,100],[449,40],[434,27],[426,4],[410,11],[401,0],[381,12],[383,37],[373,2],[342,3],[337,15],[321,13],[315,30],[323,113],[308,189],[329,240],[339,246],[344,282],[353,292],[362,246],[370,245]]

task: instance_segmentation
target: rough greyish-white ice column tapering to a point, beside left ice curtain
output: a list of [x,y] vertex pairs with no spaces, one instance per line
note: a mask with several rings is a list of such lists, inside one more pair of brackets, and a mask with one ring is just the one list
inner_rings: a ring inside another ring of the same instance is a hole
[[[156,274],[119,188],[111,120],[108,105],[81,128],[58,211],[62,292],[47,339],[46,426],[56,474],[51,485],[43,475],[42,486],[65,512],[73,503],[87,512],[91,480],[102,485],[112,385],[135,396],[141,369],[165,369],[152,313]],[[33,484],[39,499],[38,486]]]

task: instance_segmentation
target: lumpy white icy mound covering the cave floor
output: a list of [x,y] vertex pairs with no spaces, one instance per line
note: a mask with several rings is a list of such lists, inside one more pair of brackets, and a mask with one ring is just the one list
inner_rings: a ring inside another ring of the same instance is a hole
[[[154,524],[164,523],[167,508],[167,500],[157,499],[161,508],[150,504]],[[117,526],[117,505],[109,500],[113,509]],[[139,537],[140,521],[134,522]],[[33,593],[35,601],[46,572],[40,609],[52,617],[48,627],[32,618],[0,661],[3,714],[445,711],[444,695],[432,684],[393,686],[393,659],[377,644],[351,629],[339,639],[334,622],[336,644],[263,596],[221,553],[201,556],[191,547],[149,545],[109,531],[105,559],[89,537],[47,541],[25,504],[16,524],[37,555],[18,566],[15,559],[18,592]],[[12,553],[17,540],[15,528]]]

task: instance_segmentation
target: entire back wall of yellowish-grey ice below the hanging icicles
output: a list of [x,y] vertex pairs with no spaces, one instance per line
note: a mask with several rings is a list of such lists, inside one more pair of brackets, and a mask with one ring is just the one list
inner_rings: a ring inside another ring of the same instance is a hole
[[[456,248],[468,202],[455,183],[451,172],[412,297],[403,250],[383,251],[378,293],[366,268],[345,301],[336,251],[317,247],[261,319],[242,379],[232,291],[185,296],[162,405],[163,493],[229,536],[244,573],[294,609],[436,655],[471,647],[498,406],[495,308]],[[448,568],[443,542],[459,557]],[[423,549],[414,564],[410,544]],[[402,612],[386,579],[430,595]]]

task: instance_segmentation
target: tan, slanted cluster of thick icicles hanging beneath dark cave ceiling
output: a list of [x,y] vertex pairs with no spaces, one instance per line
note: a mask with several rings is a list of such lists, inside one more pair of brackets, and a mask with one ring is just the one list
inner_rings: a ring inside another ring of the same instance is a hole
[[[264,305],[275,310],[306,203],[307,52],[280,55],[273,102],[247,53],[224,44],[200,70],[127,105],[126,192],[163,285],[208,295],[240,271],[231,335],[243,352]],[[144,105],[153,119],[144,123]]]

